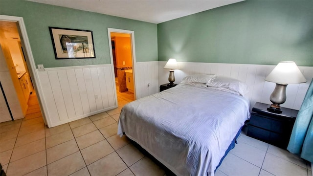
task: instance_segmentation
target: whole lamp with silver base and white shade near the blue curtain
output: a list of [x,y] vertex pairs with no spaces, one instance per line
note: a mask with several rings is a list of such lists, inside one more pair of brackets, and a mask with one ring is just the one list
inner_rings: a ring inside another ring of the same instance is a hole
[[275,113],[282,113],[280,105],[286,101],[286,87],[288,84],[307,82],[298,66],[293,61],[278,63],[265,80],[276,83],[275,89],[269,97],[272,104],[267,109]]

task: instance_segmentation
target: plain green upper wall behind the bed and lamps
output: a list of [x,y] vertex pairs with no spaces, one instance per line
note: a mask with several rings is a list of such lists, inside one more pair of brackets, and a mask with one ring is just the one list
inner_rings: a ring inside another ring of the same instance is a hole
[[246,0],[157,25],[158,60],[313,66],[313,0]]

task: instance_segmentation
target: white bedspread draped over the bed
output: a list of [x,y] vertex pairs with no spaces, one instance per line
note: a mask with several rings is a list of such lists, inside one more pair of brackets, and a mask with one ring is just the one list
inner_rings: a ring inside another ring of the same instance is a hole
[[214,176],[248,118],[246,98],[180,84],[125,105],[117,133],[125,132],[176,175]]

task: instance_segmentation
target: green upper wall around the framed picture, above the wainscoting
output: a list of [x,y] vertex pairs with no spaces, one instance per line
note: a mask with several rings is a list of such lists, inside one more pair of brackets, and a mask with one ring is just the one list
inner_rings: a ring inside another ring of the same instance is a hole
[[[0,14],[23,17],[35,64],[45,67],[110,64],[108,27],[134,31],[136,62],[157,61],[157,25],[25,0],[0,0]],[[95,59],[56,60],[49,26],[91,30]]]

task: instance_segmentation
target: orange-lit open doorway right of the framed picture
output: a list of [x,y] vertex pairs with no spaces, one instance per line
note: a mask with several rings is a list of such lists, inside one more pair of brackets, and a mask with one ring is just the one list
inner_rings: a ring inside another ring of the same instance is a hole
[[119,106],[135,100],[134,53],[132,34],[108,31]]

